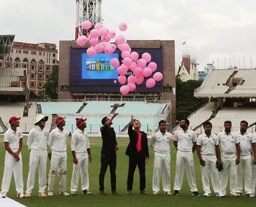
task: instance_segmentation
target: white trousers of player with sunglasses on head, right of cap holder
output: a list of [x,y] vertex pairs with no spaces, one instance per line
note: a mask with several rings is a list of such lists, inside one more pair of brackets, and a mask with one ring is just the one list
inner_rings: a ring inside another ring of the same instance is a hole
[[228,169],[230,168],[230,194],[235,195],[237,193],[236,154],[227,155],[221,153],[221,162],[223,163],[223,169],[219,173],[220,189],[224,194],[227,194]]

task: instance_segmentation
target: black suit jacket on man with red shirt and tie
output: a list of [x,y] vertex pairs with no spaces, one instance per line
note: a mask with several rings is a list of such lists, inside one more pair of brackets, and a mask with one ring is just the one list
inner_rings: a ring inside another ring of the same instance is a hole
[[[127,146],[126,149],[126,155],[137,155],[137,147],[136,144],[138,142],[138,133],[132,128],[132,125],[129,125],[128,128],[128,135],[130,138],[130,143]],[[141,153],[145,157],[149,157],[149,151],[148,151],[148,145],[147,145],[147,136],[144,131],[141,132]]]

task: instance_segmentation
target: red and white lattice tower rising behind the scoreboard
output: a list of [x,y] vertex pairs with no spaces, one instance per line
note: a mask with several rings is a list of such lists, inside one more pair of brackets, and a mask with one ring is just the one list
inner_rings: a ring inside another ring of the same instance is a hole
[[76,20],[76,40],[79,36],[88,36],[89,30],[82,28],[82,22],[89,20],[93,26],[102,22],[102,0],[76,0],[77,20]]

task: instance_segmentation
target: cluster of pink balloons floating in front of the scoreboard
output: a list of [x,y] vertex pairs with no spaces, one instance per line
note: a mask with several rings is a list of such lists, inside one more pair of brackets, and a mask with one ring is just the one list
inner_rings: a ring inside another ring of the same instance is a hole
[[[92,23],[86,20],[82,23],[82,27],[88,30],[92,27]],[[126,23],[119,24],[120,31],[126,31],[126,29]],[[109,30],[108,28],[103,27],[102,23],[95,24],[94,28],[89,33],[88,40],[91,47],[87,49],[87,55],[91,57],[101,52],[105,52],[107,55],[110,55],[115,52],[116,46],[114,44],[110,44],[110,40],[112,38],[115,38],[118,49],[122,52],[121,56],[123,63],[120,65],[117,58],[112,58],[110,60],[110,65],[113,67],[118,67],[118,82],[123,85],[120,87],[120,92],[123,95],[135,91],[135,84],[142,84],[144,78],[148,78],[146,80],[146,88],[153,88],[155,86],[155,81],[161,81],[163,79],[161,72],[155,72],[157,69],[157,64],[150,62],[151,56],[149,53],[143,53],[142,58],[139,59],[137,52],[131,52],[131,48],[129,44],[125,42],[126,39],[124,36],[116,35],[114,30]],[[102,39],[102,42],[98,42],[98,39]],[[88,40],[86,36],[80,36],[77,38],[77,44],[79,46],[83,46],[87,43]],[[129,76],[126,79],[125,75],[129,70],[134,72],[134,75]],[[149,78],[152,74],[152,78]]]

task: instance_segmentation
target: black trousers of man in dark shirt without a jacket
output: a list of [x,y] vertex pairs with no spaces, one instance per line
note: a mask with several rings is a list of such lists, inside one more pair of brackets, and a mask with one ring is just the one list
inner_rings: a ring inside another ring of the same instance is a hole
[[108,165],[110,166],[110,182],[111,182],[111,191],[116,190],[116,166],[117,166],[117,156],[116,155],[101,155],[101,171],[99,175],[99,184],[100,191],[105,189],[104,187],[104,178],[107,171]]

